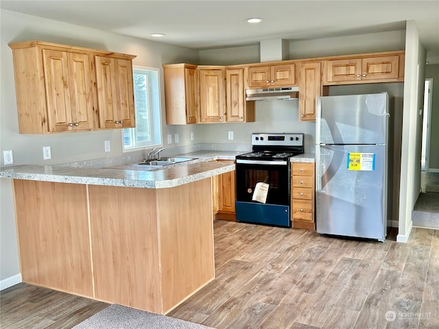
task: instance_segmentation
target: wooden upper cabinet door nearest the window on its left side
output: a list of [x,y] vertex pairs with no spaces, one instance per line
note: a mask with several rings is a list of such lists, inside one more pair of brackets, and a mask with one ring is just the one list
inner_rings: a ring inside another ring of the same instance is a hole
[[134,91],[130,60],[96,56],[99,127],[134,127]]

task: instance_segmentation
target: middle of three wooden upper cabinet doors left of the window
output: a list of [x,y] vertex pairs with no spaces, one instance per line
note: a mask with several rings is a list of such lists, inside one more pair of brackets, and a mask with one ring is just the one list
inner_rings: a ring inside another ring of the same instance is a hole
[[73,129],[91,130],[94,128],[95,77],[91,56],[84,53],[68,53],[71,119]]

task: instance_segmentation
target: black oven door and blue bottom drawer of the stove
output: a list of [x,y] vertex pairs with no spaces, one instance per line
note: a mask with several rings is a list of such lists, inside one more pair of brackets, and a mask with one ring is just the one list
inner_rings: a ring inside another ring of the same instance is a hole
[[[270,161],[236,164],[236,218],[246,223],[291,227],[289,220],[289,165]],[[268,184],[263,201],[254,201],[257,183]],[[264,202],[265,201],[265,202]]]

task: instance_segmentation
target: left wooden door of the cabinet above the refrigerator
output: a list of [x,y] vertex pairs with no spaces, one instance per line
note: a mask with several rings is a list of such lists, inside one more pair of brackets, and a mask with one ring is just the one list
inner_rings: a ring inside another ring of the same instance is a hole
[[361,59],[327,60],[324,62],[324,84],[361,80]]

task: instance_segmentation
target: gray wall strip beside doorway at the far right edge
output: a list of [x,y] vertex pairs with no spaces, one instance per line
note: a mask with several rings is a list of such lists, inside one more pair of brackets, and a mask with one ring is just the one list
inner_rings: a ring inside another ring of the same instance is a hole
[[436,171],[439,171],[439,64],[426,65],[425,78],[433,79],[433,94],[431,95],[429,169],[436,169]]

